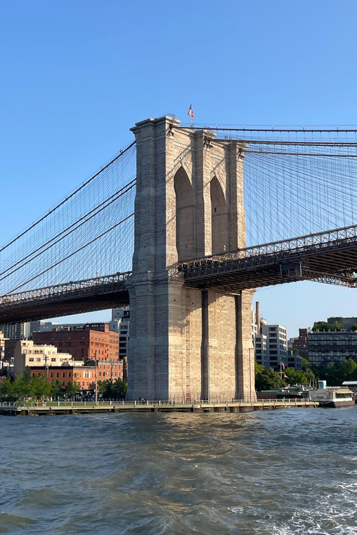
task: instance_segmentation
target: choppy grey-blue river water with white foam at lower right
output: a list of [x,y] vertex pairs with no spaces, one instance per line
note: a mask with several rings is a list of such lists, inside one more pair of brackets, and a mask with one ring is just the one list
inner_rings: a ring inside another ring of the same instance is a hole
[[0,534],[357,534],[356,416],[0,416]]

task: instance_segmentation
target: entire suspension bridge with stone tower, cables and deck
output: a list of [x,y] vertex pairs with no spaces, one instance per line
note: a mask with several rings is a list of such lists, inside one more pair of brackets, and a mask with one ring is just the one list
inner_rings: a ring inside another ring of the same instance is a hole
[[0,324],[130,304],[129,399],[253,399],[254,290],[356,287],[357,130],[132,132],[0,248]]

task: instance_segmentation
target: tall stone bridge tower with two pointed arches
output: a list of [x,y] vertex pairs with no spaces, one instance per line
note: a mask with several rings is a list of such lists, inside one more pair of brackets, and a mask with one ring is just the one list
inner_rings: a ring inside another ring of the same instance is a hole
[[177,261],[245,246],[243,147],[171,117],[137,123],[128,399],[255,399],[252,291],[185,287]]

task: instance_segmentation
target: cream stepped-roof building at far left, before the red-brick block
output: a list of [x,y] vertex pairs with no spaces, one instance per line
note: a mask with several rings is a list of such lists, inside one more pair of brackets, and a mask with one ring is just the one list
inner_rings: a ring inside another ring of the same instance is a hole
[[57,353],[55,346],[36,345],[32,340],[19,340],[14,348],[14,367],[11,375],[23,373],[25,368],[33,366],[81,366],[82,361],[75,361],[69,353]]

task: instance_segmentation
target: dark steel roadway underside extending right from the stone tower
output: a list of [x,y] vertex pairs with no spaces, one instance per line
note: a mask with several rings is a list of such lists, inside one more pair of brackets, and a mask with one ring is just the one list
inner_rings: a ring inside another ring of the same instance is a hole
[[181,263],[185,286],[239,292],[297,281],[357,287],[357,239],[264,254],[228,253]]

